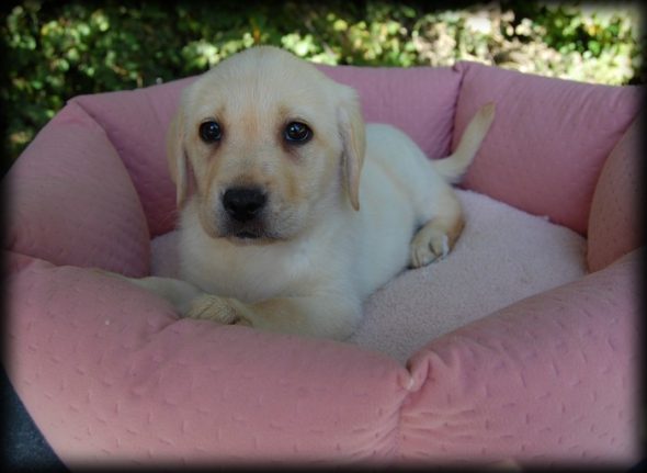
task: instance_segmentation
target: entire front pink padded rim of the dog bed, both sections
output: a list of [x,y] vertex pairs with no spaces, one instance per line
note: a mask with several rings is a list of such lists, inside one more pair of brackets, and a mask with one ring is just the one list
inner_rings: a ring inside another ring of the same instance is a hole
[[71,468],[638,458],[637,254],[440,337],[407,368],[178,320],[122,281],[8,261],[8,371]]

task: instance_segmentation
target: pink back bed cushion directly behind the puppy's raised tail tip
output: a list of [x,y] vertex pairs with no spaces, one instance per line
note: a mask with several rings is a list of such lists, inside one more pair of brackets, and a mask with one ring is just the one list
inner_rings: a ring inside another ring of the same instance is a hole
[[600,170],[636,115],[642,90],[476,63],[456,68],[464,76],[453,146],[479,104],[497,103],[464,185],[584,235]]

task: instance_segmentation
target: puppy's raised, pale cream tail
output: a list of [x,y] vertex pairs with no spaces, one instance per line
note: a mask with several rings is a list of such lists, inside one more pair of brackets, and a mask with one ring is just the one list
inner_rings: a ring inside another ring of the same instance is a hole
[[456,150],[449,157],[432,161],[434,169],[451,183],[461,180],[495,120],[495,102],[483,105],[467,124]]

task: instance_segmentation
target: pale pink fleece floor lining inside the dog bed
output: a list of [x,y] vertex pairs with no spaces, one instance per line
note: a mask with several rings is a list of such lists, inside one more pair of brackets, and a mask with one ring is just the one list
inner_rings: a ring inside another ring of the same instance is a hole
[[[586,239],[577,233],[486,195],[456,192],[466,224],[454,250],[375,292],[349,342],[405,363],[433,338],[584,275]],[[152,274],[177,273],[169,258],[174,245],[174,233],[152,240]]]

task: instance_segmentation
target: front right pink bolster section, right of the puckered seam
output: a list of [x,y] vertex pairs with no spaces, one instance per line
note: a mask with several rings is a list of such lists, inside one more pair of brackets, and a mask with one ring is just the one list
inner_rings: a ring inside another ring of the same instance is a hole
[[408,461],[591,464],[639,458],[640,255],[492,313],[410,362]]

